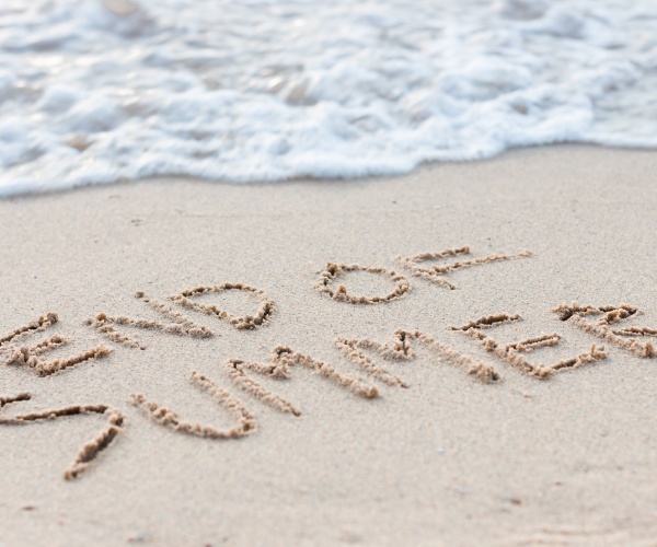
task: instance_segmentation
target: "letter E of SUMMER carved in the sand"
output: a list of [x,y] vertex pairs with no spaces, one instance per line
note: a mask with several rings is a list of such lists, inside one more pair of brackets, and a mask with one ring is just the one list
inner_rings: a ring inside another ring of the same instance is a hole
[[556,333],[553,333],[551,335],[542,334],[541,336],[527,338],[517,342],[502,345],[482,331],[487,328],[496,327],[516,321],[520,321],[519,315],[508,315],[502,313],[497,315],[479,317],[477,319],[474,319],[468,323],[466,325],[463,325],[461,327],[451,327],[451,329],[462,330],[471,338],[479,340],[487,352],[494,353],[499,359],[508,362],[512,366],[520,369],[526,374],[539,379],[546,379],[561,370],[577,369],[578,366],[583,366],[585,364],[589,364],[607,358],[604,348],[597,348],[596,345],[592,345],[589,351],[580,353],[577,357],[570,359],[562,359],[557,363],[551,365],[533,364],[525,357],[523,353],[531,353],[532,351],[539,348],[556,346],[562,339],[561,335],[557,335]]

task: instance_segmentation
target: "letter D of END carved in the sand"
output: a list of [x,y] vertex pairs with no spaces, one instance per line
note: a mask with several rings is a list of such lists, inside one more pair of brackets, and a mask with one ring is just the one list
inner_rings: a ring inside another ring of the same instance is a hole
[[[192,300],[194,296],[198,296],[200,294],[221,291],[251,292],[257,298],[261,305],[253,315],[243,315],[235,317],[233,315],[230,315],[224,310],[220,310],[214,304],[198,304],[197,302],[194,302]],[[249,287],[244,283],[222,283],[215,287],[197,287],[196,289],[187,289],[184,290],[181,294],[172,296],[171,300],[184,307],[196,310],[197,312],[201,312],[207,315],[214,315],[220,319],[227,319],[238,330],[252,330],[254,328],[262,327],[263,325],[269,322],[269,318],[275,310],[274,301],[269,296],[267,296],[265,291],[254,289],[253,287]]]

